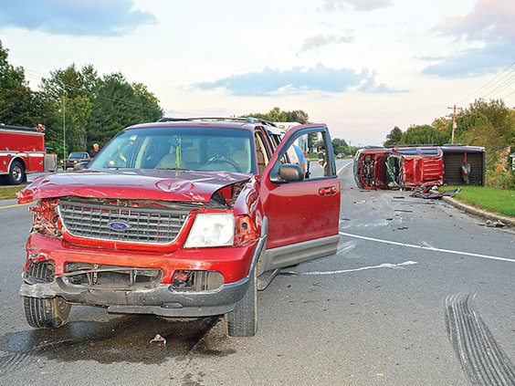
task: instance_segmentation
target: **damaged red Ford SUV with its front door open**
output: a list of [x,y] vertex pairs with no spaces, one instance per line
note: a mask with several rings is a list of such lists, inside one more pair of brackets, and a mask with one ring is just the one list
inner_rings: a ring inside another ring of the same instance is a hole
[[[340,182],[323,124],[284,138],[267,121],[170,120],[121,130],[87,169],[37,178],[20,294],[27,322],[58,328],[71,305],[163,317],[226,314],[257,331],[257,290],[280,267],[335,253]],[[324,142],[306,179],[288,150]]]

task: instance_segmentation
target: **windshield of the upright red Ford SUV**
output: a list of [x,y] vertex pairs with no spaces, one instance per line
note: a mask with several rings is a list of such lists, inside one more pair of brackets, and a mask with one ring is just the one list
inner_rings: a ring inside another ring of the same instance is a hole
[[184,169],[255,172],[252,132],[206,127],[121,131],[89,169]]

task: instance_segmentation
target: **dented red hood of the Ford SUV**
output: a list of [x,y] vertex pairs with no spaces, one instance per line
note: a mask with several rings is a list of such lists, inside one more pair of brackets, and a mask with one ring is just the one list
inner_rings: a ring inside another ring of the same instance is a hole
[[166,170],[61,172],[37,177],[18,193],[18,203],[64,196],[207,203],[218,189],[249,174]]

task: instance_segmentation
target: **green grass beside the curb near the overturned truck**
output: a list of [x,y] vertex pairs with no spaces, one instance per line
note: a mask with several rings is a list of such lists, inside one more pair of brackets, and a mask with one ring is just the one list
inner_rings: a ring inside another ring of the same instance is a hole
[[496,214],[515,217],[515,191],[500,190],[482,186],[440,186],[441,191],[461,188],[454,198]]

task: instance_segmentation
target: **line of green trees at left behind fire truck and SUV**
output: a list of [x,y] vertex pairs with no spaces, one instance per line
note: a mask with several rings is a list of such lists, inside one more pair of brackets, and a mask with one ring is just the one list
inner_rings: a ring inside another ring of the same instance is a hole
[[[131,124],[163,117],[159,100],[142,83],[121,73],[99,75],[92,65],[74,64],[50,72],[39,89],[29,88],[24,68],[14,67],[0,41],[0,122],[46,126],[46,144],[58,154],[105,144]],[[63,149],[66,128],[66,150]]]

